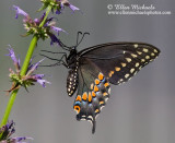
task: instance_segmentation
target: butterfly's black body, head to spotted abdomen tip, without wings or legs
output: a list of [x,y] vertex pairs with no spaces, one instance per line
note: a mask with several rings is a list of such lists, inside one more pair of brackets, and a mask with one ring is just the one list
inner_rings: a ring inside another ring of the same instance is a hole
[[68,68],[70,69],[67,79],[67,93],[72,96],[78,87],[78,67],[79,60],[77,50],[72,49],[67,58]]

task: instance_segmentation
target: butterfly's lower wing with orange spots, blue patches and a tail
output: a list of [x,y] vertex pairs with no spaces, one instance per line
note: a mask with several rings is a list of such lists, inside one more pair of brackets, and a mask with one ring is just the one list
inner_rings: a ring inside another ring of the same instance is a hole
[[89,120],[95,132],[95,118],[109,97],[109,83],[101,70],[90,60],[84,59],[79,68],[78,95],[74,110],[78,120]]

